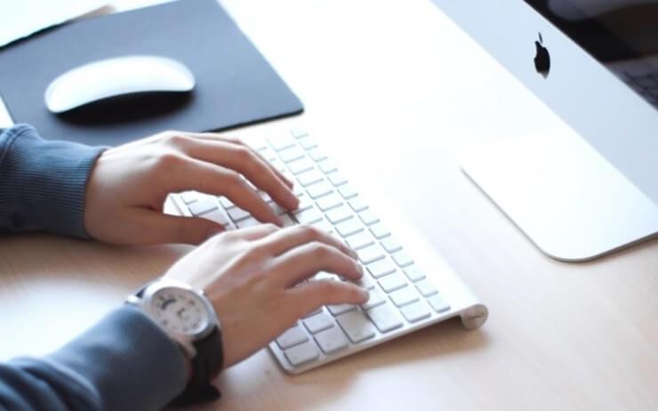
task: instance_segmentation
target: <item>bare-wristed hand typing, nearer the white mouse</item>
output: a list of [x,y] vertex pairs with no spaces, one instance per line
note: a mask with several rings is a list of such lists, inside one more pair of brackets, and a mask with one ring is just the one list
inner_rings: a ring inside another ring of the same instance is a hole
[[100,155],[87,185],[84,227],[115,244],[198,244],[223,230],[203,218],[163,214],[169,193],[189,189],[226,196],[261,222],[281,224],[253,186],[295,209],[293,182],[237,139],[164,132]]

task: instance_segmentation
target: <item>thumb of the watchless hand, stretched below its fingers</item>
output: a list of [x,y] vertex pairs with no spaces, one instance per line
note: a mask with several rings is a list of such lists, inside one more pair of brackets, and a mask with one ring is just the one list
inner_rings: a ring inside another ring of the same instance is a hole
[[151,210],[135,210],[134,238],[139,244],[182,243],[200,244],[224,227],[205,218],[162,214]]

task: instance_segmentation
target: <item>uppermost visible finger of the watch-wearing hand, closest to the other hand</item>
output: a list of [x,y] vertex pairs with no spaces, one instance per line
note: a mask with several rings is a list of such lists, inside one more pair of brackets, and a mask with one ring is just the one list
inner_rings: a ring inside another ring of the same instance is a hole
[[277,256],[312,241],[338,248],[342,253],[348,254],[354,260],[358,258],[357,252],[349,248],[340,239],[335,238],[325,230],[319,230],[303,224],[278,230],[276,234],[263,238],[260,243],[261,246],[269,250],[270,254]]

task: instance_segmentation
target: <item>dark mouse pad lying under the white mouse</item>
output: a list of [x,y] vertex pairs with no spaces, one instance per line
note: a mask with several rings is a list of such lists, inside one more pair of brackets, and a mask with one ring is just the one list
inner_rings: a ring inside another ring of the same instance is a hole
[[[144,95],[54,115],[44,91],[93,60],[149,54],[180,60],[189,95]],[[15,123],[44,138],[116,145],[162,130],[211,131],[300,113],[301,101],[217,0],[168,4],[76,21],[0,49],[0,96]]]

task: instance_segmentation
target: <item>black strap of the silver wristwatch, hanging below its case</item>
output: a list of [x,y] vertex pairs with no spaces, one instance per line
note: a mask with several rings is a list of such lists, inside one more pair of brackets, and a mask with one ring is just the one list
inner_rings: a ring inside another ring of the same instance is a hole
[[210,383],[220,374],[224,364],[220,327],[215,326],[211,334],[195,342],[194,346],[197,349],[197,356],[192,359],[192,378],[185,391],[173,399],[171,403],[173,407],[189,406],[221,398],[221,392]]

